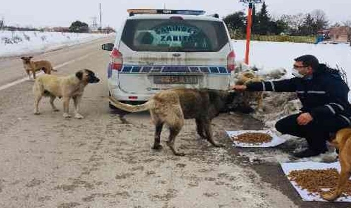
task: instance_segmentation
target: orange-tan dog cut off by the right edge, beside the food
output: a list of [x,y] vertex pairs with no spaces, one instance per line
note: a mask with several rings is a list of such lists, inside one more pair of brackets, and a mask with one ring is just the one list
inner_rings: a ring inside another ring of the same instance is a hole
[[330,143],[339,150],[341,172],[334,193],[324,194],[322,197],[326,200],[335,200],[341,195],[343,186],[351,176],[351,128],[340,129]]

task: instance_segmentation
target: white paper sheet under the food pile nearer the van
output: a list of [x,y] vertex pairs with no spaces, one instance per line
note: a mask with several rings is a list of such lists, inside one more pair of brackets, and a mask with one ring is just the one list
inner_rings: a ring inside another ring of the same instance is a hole
[[231,139],[233,136],[243,134],[243,133],[266,133],[269,134],[272,137],[272,141],[266,142],[266,143],[244,143],[244,142],[238,142],[238,141],[233,141],[233,145],[236,147],[275,147],[278,146],[282,143],[284,143],[286,140],[283,138],[278,137],[276,134],[274,134],[271,130],[240,130],[240,131],[226,131],[229,138]]

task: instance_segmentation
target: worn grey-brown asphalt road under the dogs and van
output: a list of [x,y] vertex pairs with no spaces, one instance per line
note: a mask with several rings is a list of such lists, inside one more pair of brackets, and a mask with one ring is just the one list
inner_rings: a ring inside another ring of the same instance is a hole
[[[261,150],[232,147],[224,131],[262,128],[248,115],[222,114],[214,119],[215,139],[225,148],[201,140],[194,121],[187,120],[175,142],[186,156],[174,156],[167,148],[167,130],[161,139],[164,149],[152,150],[154,126],[147,112],[121,117],[108,107],[109,53],[100,45],[111,41],[97,40],[34,58],[50,60],[58,75],[88,68],[101,78],[85,89],[82,120],[64,119],[59,99],[60,112],[52,112],[48,99],[42,99],[42,114],[33,115],[33,81],[23,79],[21,60],[0,59],[0,208],[350,206],[303,202],[278,163],[255,164],[240,156]],[[284,148],[279,151],[287,151]]]

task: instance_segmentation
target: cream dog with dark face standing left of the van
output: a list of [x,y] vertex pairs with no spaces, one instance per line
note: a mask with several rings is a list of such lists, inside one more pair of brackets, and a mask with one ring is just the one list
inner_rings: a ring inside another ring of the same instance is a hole
[[72,98],[75,107],[74,117],[82,119],[83,116],[78,111],[84,88],[88,83],[97,83],[99,81],[100,79],[95,76],[95,73],[88,69],[80,70],[65,77],[49,74],[39,76],[33,85],[34,114],[40,114],[38,104],[43,96],[50,97],[52,109],[58,111],[53,102],[56,97],[59,97],[63,99],[63,117],[69,118],[71,116],[68,114],[68,108]]

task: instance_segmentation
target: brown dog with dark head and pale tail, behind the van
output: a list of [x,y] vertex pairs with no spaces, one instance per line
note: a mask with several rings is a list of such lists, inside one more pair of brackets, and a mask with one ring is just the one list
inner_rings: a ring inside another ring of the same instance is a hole
[[[162,127],[166,124],[170,130],[167,145],[177,156],[185,155],[174,148],[175,137],[184,125],[184,119],[195,119],[197,133],[207,139],[213,146],[222,147],[213,140],[211,121],[222,112],[237,110],[251,112],[252,108],[244,106],[243,96],[240,93],[224,90],[186,89],[175,88],[164,90],[146,103],[141,105],[124,104],[110,97],[115,107],[128,112],[150,111],[155,124],[155,140],[153,149],[161,149],[160,135]],[[231,107],[231,109],[229,109]]]

